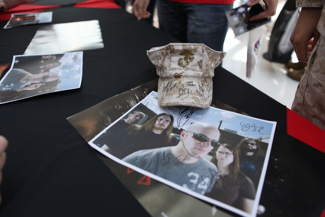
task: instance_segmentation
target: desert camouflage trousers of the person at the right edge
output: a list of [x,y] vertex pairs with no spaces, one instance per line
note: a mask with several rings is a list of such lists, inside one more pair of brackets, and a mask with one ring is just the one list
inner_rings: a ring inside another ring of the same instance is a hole
[[291,109],[325,130],[325,37],[322,35],[310,54]]

